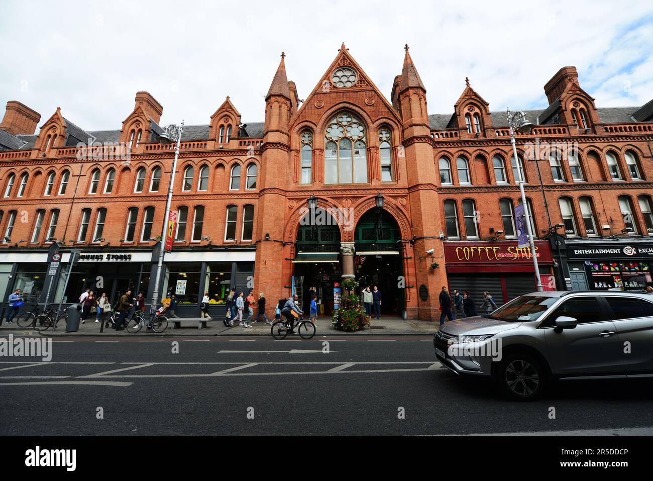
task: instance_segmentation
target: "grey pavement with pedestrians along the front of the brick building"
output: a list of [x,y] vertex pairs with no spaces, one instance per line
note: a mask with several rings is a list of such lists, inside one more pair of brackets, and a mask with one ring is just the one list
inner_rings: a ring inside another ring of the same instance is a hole
[[[101,337],[122,337],[122,336],[147,336],[147,337],[157,337],[157,336],[270,336],[270,325],[259,321],[258,323],[251,323],[249,329],[244,327],[225,327],[221,319],[214,318],[206,323],[206,329],[198,329],[200,319],[189,320],[185,319],[182,323],[182,327],[178,329],[172,329],[172,322],[170,320],[168,323],[168,328],[161,334],[148,332],[147,329],[141,329],[138,333],[129,333],[126,329],[125,331],[115,331],[114,329],[104,329],[104,332],[100,332],[100,323],[95,322],[95,319],[89,319],[86,323],[79,326],[79,330],[72,333],[65,332],[66,325],[65,322],[59,323],[57,325],[56,331],[53,331],[52,328],[47,331],[42,331],[41,335],[48,337],[72,337],[72,336],[101,336]],[[345,332],[338,331],[335,329],[331,323],[329,316],[323,316],[318,318],[317,323],[315,323],[315,335],[343,335],[343,336],[370,336],[370,335],[434,335],[439,329],[439,322],[429,322],[429,321],[420,321],[420,320],[404,320],[400,317],[384,317],[381,320],[373,319],[371,321],[371,329],[364,329],[362,331],[355,332]],[[5,331],[16,331],[16,333],[21,333],[24,335],[32,335],[37,333],[33,329],[23,329],[18,327],[16,322],[12,324],[7,324],[3,322],[3,325],[0,326],[0,335],[5,333]]]

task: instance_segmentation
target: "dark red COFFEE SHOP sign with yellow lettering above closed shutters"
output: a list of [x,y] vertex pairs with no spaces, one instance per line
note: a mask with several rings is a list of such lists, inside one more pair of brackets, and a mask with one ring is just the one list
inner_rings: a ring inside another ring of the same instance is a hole
[[[541,262],[551,262],[548,242],[535,242],[535,254]],[[530,262],[530,247],[518,247],[517,242],[452,242],[445,243],[447,263]]]

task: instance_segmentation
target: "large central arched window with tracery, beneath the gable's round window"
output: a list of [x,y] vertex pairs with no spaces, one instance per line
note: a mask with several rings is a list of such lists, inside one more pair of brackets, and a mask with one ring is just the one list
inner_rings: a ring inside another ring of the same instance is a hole
[[325,184],[368,182],[365,127],[353,114],[332,118],[325,131]]

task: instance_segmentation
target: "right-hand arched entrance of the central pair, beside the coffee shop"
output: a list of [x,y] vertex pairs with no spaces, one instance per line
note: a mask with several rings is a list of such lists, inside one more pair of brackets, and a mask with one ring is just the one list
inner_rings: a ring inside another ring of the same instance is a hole
[[401,316],[406,308],[403,247],[399,225],[386,210],[368,210],[354,232],[354,269],[361,286],[381,291],[381,313]]

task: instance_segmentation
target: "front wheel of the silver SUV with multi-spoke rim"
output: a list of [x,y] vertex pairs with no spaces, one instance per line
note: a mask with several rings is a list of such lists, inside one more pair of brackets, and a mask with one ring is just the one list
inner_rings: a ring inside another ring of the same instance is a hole
[[508,397],[516,401],[534,401],[547,384],[547,371],[529,354],[511,354],[503,359],[498,383]]

